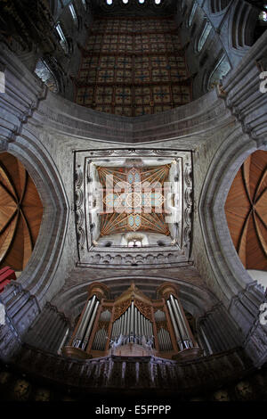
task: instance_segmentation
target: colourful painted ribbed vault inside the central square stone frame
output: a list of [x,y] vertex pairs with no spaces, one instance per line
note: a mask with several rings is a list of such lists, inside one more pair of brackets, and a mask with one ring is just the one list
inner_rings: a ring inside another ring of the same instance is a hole
[[104,209],[101,213],[101,235],[127,231],[169,235],[164,208],[164,183],[169,168],[170,165],[154,168],[98,167]]

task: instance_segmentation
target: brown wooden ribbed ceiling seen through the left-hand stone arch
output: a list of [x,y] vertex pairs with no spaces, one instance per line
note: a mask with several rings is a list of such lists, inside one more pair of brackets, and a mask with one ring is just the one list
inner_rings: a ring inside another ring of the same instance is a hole
[[28,172],[11,154],[0,153],[0,267],[26,267],[42,216],[42,202]]

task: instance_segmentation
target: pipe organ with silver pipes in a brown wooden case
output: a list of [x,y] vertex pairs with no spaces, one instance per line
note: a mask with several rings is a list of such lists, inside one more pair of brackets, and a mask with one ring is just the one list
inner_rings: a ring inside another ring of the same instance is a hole
[[88,298],[72,333],[62,349],[67,357],[117,356],[192,358],[201,355],[173,283],[158,287],[151,300],[134,283],[116,299],[109,289],[92,283]]

